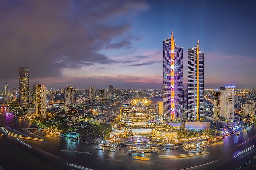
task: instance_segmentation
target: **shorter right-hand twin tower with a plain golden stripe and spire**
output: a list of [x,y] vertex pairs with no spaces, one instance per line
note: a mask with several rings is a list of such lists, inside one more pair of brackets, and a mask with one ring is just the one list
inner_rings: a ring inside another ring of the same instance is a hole
[[188,120],[204,121],[204,53],[188,49]]

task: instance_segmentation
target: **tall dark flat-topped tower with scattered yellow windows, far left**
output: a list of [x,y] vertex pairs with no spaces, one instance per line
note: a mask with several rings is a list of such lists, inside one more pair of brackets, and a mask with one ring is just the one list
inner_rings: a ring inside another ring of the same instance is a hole
[[29,104],[29,68],[19,67],[19,106],[28,107]]

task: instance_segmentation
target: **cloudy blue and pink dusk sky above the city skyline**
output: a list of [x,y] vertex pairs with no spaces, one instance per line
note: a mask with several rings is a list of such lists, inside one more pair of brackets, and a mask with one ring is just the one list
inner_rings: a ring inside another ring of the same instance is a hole
[[256,87],[256,1],[1,1],[0,89],[30,86],[160,89],[163,39],[200,40],[204,86]]

